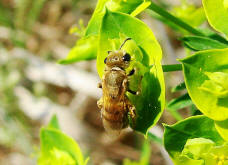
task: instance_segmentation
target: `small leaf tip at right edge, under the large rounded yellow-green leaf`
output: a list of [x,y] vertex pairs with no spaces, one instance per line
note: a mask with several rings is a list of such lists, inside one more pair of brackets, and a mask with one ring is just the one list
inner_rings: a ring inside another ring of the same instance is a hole
[[215,128],[225,141],[228,141],[228,120],[215,121]]

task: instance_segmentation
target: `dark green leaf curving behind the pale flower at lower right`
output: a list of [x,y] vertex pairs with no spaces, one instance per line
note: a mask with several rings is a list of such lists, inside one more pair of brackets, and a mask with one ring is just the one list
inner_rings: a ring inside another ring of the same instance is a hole
[[165,125],[164,145],[173,159],[178,159],[187,140],[193,138],[210,139],[216,145],[224,142],[215,129],[214,121],[206,116],[193,116],[172,126]]

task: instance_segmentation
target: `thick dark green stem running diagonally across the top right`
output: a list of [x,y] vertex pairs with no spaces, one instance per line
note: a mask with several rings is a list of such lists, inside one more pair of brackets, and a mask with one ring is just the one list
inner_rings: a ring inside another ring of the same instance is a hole
[[160,16],[172,21],[176,25],[180,26],[181,28],[185,29],[186,31],[188,31],[188,32],[190,32],[192,34],[195,34],[197,36],[205,36],[203,33],[201,33],[200,31],[196,30],[195,28],[193,28],[189,24],[185,23],[181,19],[173,16],[172,14],[170,14],[169,12],[167,12],[166,10],[161,8],[160,6],[156,5],[154,2],[151,2],[151,5],[149,6],[149,9],[153,10],[155,13],[159,14]]

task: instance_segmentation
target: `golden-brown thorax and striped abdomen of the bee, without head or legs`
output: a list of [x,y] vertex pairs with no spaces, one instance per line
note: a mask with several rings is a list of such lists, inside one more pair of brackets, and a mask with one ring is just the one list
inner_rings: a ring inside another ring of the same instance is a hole
[[127,107],[125,103],[126,89],[123,81],[124,71],[110,71],[105,74],[103,82],[102,120],[106,130],[121,130],[128,125]]

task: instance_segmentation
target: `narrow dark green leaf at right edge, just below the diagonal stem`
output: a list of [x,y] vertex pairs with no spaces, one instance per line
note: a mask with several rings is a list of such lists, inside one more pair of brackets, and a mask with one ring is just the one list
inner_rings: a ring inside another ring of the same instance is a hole
[[208,37],[187,36],[181,38],[181,40],[187,48],[195,51],[228,48],[228,45],[212,40]]

